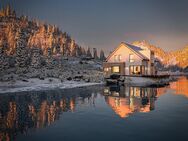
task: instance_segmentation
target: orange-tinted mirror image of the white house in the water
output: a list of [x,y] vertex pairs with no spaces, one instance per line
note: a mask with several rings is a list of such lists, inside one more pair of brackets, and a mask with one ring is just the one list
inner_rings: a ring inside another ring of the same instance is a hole
[[149,112],[154,109],[157,89],[141,87],[106,87],[106,102],[121,118],[134,112]]

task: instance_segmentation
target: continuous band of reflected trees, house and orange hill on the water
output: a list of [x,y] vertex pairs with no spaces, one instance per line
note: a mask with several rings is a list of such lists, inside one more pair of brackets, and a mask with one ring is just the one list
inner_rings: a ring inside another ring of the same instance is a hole
[[45,128],[63,120],[63,113],[76,112],[81,105],[95,107],[99,99],[120,118],[147,113],[155,110],[155,101],[168,89],[188,96],[187,84],[187,78],[181,78],[163,88],[96,86],[0,95],[0,141],[15,140],[18,134],[27,134],[29,129]]

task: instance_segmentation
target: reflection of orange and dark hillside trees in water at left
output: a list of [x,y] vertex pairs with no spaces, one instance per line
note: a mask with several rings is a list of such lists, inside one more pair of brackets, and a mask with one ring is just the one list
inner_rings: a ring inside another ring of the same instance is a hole
[[15,140],[18,133],[44,128],[77,104],[94,103],[95,89],[24,92],[0,96],[0,141]]

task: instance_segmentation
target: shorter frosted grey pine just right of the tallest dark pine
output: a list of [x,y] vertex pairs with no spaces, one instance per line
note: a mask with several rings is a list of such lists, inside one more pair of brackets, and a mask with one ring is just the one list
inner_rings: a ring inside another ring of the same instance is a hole
[[39,47],[33,47],[31,49],[31,66],[35,69],[41,67],[42,63],[42,50]]

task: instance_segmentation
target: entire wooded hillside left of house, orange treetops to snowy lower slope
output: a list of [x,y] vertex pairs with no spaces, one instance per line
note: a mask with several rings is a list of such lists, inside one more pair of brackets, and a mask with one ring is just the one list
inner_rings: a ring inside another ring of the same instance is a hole
[[17,16],[10,6],[0,10],[0,81],[47,77],[98,81],[99,59],[105,59],[102,50],[100,58],[95,48],[92,55],[90,48],[86,51],[55,25]]

